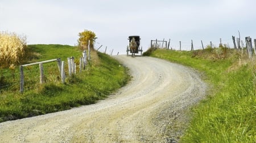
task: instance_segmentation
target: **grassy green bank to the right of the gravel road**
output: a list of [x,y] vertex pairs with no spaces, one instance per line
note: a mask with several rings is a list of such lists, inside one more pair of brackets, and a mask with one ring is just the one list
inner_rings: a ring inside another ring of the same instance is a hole
[[212,86],[207,99],[192,109],[181,142],[256,142],[255,59],[225,48],[150,55],[193,67]]

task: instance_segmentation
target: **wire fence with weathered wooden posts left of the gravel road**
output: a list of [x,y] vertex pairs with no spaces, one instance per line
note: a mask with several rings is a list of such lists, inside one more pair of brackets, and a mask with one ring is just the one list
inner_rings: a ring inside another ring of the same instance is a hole
[[[31,89],[40,89],[40,87],[42,87],[41,85],[46,83],[63,83],[63,79],[65,80],[66,76],[68,77],[75,74],[76,71],[81,72],[81,68],[85,70],[85,65],[87,63],[86,57],[86,52],[84,51],[83,58],[75,59],[74,57],[71,57],[65,60],[67,62],[62,61],[65,63],[63,64],[63,67],[60,65],[60,63],[62,63],[59,61],[60,59],[53,59],[54,61],[52,62],[45,63],[43,61],[41,68],[40,65],[36,63],[32,63],[32,65],[28,64],[17,67],[2,68],[0,69],[0,93],[7,91],[25,92]],[[63,70],[60,68],[63,68]],[[61,71],[63,71],[64,74]]]

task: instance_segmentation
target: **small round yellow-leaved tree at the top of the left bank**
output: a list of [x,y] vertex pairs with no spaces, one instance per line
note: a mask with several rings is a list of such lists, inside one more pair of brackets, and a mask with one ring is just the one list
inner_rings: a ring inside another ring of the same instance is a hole
[[90,40],[90,47],[94,49],[94,42],[96,41],[97,37],[93,31],[84,30],[83,32],[79,33],[79,47],[81,50],[88,49],[88,44]]

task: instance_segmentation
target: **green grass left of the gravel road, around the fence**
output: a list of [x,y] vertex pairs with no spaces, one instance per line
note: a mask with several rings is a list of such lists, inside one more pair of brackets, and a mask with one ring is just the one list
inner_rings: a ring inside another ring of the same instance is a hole
[[[76,47],[68,45],[28,45],[28,50],[31,60],[27,63],[81,57]],[[91,58],[86,70],[67,77],[65,84],[60,81],[38,84],[23,94],[15,88],[3,90],[0,94],[0,122],[92,104],[126,84],[129,79],[127,69],[117,60],[96,51],[92,51]]]

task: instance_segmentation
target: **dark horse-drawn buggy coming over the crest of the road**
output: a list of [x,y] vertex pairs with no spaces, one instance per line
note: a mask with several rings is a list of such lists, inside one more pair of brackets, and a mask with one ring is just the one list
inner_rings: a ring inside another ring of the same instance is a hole
[[139,54],[139,51],[142,55],[142,47],[139,47],[140,40],[139,36],[129,36],[129,46],[127,46],[127,56],[129,55],[129,52],[131,53],[131,57],[135,57],[135,54]]

